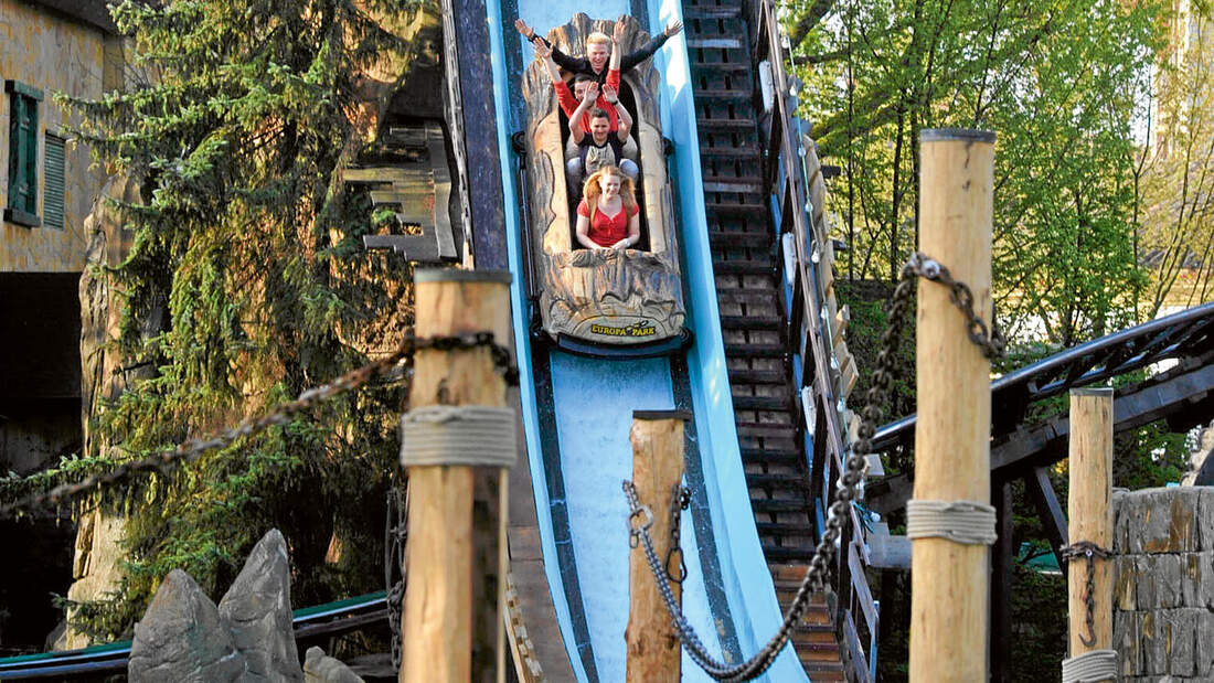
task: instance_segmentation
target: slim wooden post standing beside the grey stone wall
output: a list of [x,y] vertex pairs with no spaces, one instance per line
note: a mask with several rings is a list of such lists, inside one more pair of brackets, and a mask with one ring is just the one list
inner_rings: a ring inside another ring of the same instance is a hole
[[[1101,548],[1113,547],[1113,389],[1071,389],[1071,491],[1067,516],[1071,519],[1067,542],[1091,541]],[[1079,557],[1067,563],[1067,597],[1071,614],[1071,656],[1091,650],[1107,650],[1113,642],[1112,562],[1095,559],[1095,588],[1091,645],[1088,638],[1088,560]]]

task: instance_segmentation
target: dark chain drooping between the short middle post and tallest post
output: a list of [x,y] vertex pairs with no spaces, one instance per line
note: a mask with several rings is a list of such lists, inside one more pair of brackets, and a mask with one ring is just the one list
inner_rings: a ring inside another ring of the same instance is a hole
[[861,411],[861,423],[856,429],[856,440],[851,444],[851,451],[844,460],[844,472],[835,484],[835,500],[830,503],[829,514],[818,545],[813,550],[813,558],[810,560],[809,570],[789,605],[784,621],[776,634],[749,660],[730,666],[716,661],[704,648],[699,636],[694,632],[682,614],[682,608],[675,602],[674,592],[666,571],[662,568],[657,552],[653,550],[653,541],[649,537],[649,528],[653,525],[653,512],[648,506],[641,505],[636,499],[636,488],[631,482],[624,482],[624,495],[628,497],[629,518],[629,547],[640,546],[645,552],[646,562],[658,582],[658,592],[670,613],[675,632],[682,641],[687,654],[704,670],[705,673],[717,681],[738,682],[750,681],[760,676],[776,661],[793,628],[805,615],[810,604],[810,597],[826,587],[826,581],[830,571],[830,562],[834,558],[835,543],[843,535],[844,524],[847,522],[847,512],[853,503],[858,503],[863,497],[861,486],[864,477],[867,457],[873,453],[873,436],[881,420],[885,406],[889,404],[889,394],[894,387],[895,354],[901,345],[902,320],[906,317],[914,300],[914,285],[918,278],[924,278],[941,284],[949,289],[949,300],[965,315],[965,330],[970,341],[978,347],[978,351],[987,359],[995,359],[1003,355],[1006,342],[998,328],[987,326],[986,321],[974,311],[974,292],[961,281],[955,280],[948,268],[929,256],[915,252],[902,266],[898,275],[898,284],[894,290],[886,313],[889,323],[881,335],[881,349],[877,354],[877,369],[872,375],[872,386],[866,394],[864,409]]

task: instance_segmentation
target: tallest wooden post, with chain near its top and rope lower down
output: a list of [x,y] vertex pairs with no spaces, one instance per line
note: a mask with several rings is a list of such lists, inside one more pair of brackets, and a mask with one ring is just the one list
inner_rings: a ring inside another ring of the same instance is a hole
[[[974,292],[991,320],[994,133],[919,136],[920,246]],[[991,364],[970,341],[948,288],[919,280],[914,497],[991,500]],[[989,548],[947,539],[910,546],[910,681],[987,679]]]

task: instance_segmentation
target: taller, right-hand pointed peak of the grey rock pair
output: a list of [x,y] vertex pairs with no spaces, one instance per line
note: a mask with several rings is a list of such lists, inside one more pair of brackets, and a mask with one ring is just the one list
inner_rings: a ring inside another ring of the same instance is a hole
[[278,529],[271,529],[257,541],[240,575],[220,601],[219,613],[248,661],[246,681],[304,679],[291,625],[287,541]]

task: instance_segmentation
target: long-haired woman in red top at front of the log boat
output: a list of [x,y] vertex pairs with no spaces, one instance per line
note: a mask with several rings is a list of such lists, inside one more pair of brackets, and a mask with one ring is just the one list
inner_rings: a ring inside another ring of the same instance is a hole
[[586,249],[629,249],[641,241],[641,209],[632,180],[615,166],[586,178],[578,204],[578,241]]

